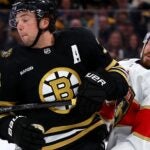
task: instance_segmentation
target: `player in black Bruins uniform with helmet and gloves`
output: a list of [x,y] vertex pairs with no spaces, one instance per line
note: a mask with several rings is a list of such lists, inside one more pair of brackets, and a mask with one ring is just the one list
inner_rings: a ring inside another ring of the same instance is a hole
[[0,106],[75,99],[72,105],[0,115],[0,138],[23,150],[103,150],[97,113],[123,97],[126,73],[84,28],[55,31],[54,0],[17,0],[9,24],[24,45],[1,53]]

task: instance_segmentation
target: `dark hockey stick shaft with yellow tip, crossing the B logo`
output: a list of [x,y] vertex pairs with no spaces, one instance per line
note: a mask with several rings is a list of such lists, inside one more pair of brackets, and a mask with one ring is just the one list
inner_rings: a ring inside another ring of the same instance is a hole
[[52,101],[52,102],[46,102],[46,103],[22,104],[22,105],[6,106],[6,107],[3,106],[3,107],[0,107],[0,114],[20,111],[20,110],[41,109],[41,108],[48,108],[48,107],[73,105],[74,102],[75,102],[75,99]]

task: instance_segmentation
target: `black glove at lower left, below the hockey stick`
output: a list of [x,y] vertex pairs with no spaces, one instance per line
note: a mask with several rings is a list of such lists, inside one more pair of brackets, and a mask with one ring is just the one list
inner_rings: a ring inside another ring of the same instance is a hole
[[[42,128],[41,125],[37,126]],[[42,130],[37,126],[32,125],[26,117],[16,116],[9,123],[8,134],[23,150],[40,150],[45,141]]]

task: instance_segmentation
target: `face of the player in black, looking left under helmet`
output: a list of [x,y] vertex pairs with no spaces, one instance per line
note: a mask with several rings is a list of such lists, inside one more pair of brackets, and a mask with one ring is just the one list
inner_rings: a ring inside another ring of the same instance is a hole
[[16,15],[16,23],[18,33],[26,46],[32,45],[37,33],[37,20],[35,13],[30,11],[22,11]]

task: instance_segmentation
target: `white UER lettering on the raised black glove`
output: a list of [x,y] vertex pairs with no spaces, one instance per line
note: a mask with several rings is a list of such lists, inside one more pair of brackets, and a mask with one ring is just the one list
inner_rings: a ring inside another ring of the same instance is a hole
[[96,74],[93,73],[87,73],[87,75],[85,76],[87,78],[90,78],[94,81],[96,81],[97,83],[101,83],[101,86],[106,84],[106,81],[104,79],[101,79],[99,76],[97,76]]

